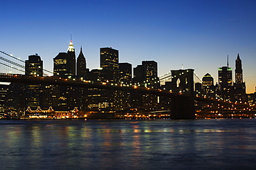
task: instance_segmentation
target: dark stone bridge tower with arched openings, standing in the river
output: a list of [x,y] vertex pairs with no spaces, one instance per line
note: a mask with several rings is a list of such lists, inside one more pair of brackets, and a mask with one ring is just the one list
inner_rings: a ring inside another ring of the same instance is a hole
[[171,70],[172,82],[171,89],[177,95],[171,101],[172,119],[194,119],[194,70]]

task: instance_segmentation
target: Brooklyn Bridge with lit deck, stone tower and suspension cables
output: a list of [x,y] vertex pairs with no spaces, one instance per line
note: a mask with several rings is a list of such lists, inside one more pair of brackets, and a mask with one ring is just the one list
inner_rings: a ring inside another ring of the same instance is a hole
[[[162,88],[150,88],[143,84],[117,84],[113,82],[91,81],[80,78],[62,78],[44,70],[44,76],[26,75],[25,62],[8,53],[0,51],[1,70],[0,82],[15,84],[41,84],[55,86],[71,86],[84,89],[104,89],[106,91],[122,91],[123,93],[147,94],[165,99],[170,105],[170,117],[172,119],[194,119],[196,113],[208,111],[208,113],[252,113],[255,117],[255,107],[244,102],[230,102],[217,97],[198,95],[194,92],[194,70],[181,69],[171,70],[160,77],[160,81],[166,81],[169,86]],[[169,78],[171,77],[171,78]],[[172,79],[171,82],[170,79]],[[78,95],[78,94],[77,94]],[[15,96],[13,96],[15,97]],[[75,96],[74,96],[75,97]],[[120,97],[118,98],[120,99]]]

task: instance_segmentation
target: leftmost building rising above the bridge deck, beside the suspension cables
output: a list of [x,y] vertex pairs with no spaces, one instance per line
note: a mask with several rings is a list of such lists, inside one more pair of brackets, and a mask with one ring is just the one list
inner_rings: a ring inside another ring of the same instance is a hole
[[25,61],[25,75],[43,76],[43,61],[39,55],[28,56]]

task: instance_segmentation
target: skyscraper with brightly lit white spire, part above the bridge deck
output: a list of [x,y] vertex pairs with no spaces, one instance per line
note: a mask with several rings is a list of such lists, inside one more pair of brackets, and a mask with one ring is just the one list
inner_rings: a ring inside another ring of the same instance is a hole
[[54,59],[53,75],[63,78],[75,77],[75,48],[72,40],[67,53],[59,53]]

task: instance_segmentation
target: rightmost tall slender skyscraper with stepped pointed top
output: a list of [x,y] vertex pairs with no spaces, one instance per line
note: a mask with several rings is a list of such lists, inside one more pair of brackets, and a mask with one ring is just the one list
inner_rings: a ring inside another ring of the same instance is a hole
[[235,60],[235,83],[234,83],[235,101],[247,102],[246,84],[243,82],[243,70],[241,68],[241,59],[237,54]]

